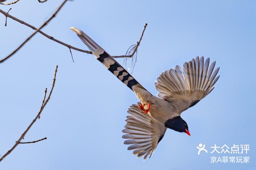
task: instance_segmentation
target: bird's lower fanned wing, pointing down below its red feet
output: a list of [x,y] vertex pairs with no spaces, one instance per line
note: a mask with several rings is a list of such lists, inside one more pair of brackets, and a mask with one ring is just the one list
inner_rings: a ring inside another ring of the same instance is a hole
[[128,150],[134,150],[133,155],[144,156],[144,160],[154,153],[158,143],[165,134],[166,127],[154,120],[150,114],[142,114],[138,105],[133,104],[128,109],[125,129],[122,136],[124,144],[130,145]]

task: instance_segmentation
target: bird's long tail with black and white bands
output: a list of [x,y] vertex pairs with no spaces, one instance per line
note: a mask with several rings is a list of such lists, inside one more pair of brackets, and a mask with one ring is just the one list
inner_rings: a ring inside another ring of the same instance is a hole
[[70,27],[77,36],[83,41],[83,43],[90,49],[98,61],[100,61],[110,72],[112,72],[119,80],[121,80],[125,85],[127,85],[131,90],[132,86],[137,85],[143,89],[139,82],[137,82],[131,74],[129,74],[126,69],[124,69],[111,55],[109,55],[105,50],[103,50],[94,40],[92,40],[83,31]]

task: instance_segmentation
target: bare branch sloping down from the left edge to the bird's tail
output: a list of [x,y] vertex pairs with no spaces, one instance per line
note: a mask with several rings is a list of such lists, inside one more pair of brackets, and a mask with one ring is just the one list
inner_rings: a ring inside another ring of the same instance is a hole
[[[15,17],[11,16],[10,14],[8,14],[8,13],[2,11],[1,9],[0,9],[0,13],[2,13],[4,16],[6,16],[6,18],[9,17],[9,18],[11,18],[11,19],[13,19],[13,20],[15,20],[15,21],[21,23],[21,24],[24,24],[25,26],[28,26],[28,27],[32,28],[33,30],[38,30],[38,29],[35,28],[34,26],[31,26],[30,24],[28,24],[28,23],[26,23],[26,22],[24,22],[24,21],[22,21],[22,20],[20,20],[20,19],[18,19],[18,18],[15,18]],[[38,32],[39,32],[40,34],[42,34],[43,36],[45,36],[45,37],[47,37],[47,38],[49,38],[49,39],[51,39],[51,40],[53,40],[53,41],[55,41],[55,42],[57,42],[57,43],[63,45],[63,46],[66,46],[66,47],[71,48],[71,49],[76,50],[76,51],[80,51],[80,52],[92,54],[92,52],[90,52],[90,51],[86,51],[86,50],[82,50],[82,49],[79,49],[79,48],[75,48],[75,47],[73,47],[73,46],[71,46],[71,45],[68,45],[68,44],[66,44],[66,43],[63,43],[63,42],[61,42],[60,40],[55,39],[54,37],[45,34],[45,33],[44,33],[43,31],[41,31],[41,30],[38,30]]]

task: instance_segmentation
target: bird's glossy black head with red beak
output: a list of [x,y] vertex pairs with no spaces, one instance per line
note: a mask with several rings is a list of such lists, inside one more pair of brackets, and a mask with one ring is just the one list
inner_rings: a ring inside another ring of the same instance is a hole
[[180,116],[176,116],[172,119],[168,119],[165,122],[165,127],[170,128],[174,131],[185,132],[186,134],[188,134],[190,136],[190,133],[188,132],[187,123]]

